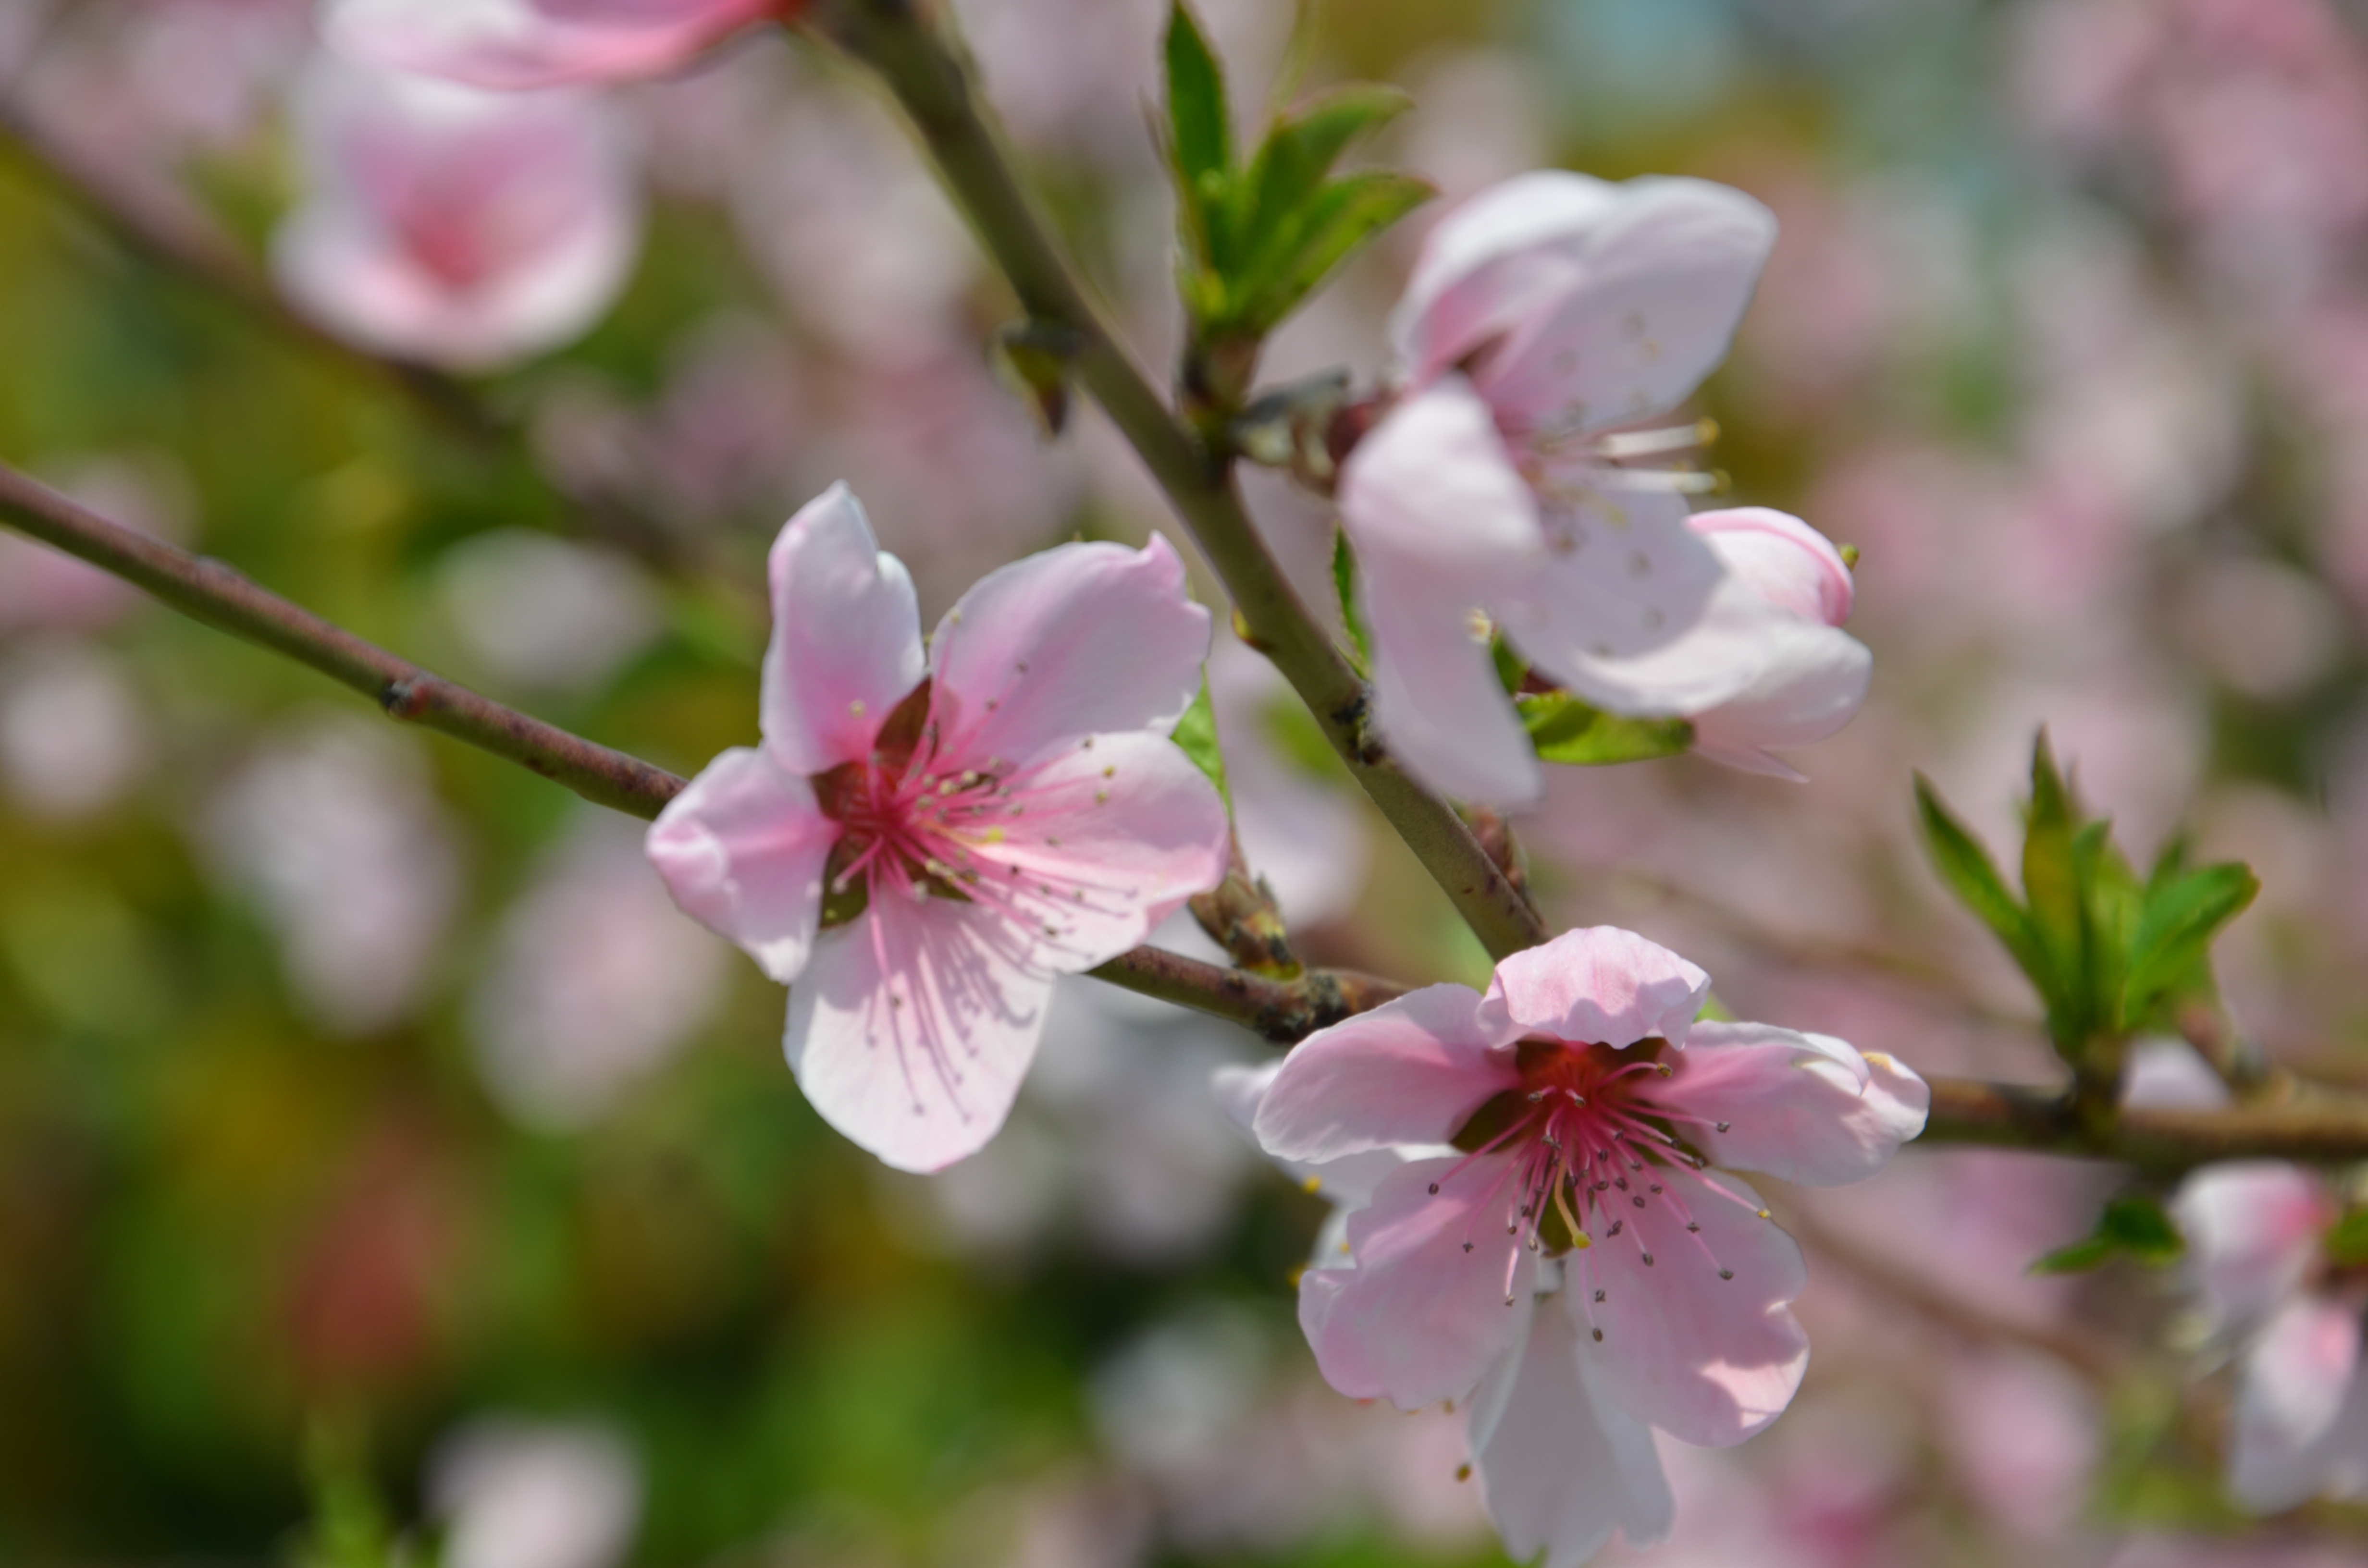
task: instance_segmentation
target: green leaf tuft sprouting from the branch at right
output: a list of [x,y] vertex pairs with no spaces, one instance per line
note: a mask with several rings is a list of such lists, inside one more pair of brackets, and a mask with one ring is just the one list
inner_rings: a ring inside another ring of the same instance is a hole
[[1916,812],[1939,879],[2029,978],[2048,1037],[2074,1068],[2096,1042],[2162,1028],[2181,1004],[2209,997],[2212,940],[2261,888],[2238,862],[2188,867],[2176,838],[2141,879],[2112,822],[2084,817],[2044,730],[2022,812],[2022,898],[1923,775]]

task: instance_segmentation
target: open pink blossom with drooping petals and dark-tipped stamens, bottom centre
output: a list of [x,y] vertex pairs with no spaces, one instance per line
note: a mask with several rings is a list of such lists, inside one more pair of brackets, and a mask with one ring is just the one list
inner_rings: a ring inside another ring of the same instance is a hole
[[1430,985],[1310,1035],[1253,1118],[1269,1156],[1352,1177],[1331,1267],[1300,1279],[1326,1381],[1466,1400],[1506,1547],[1551,1568],[1667,1532],[1653,1428],[1740,1442],[1800,1386],[1800,1248],[1729,1172],[1857,1182],[1923,1130],[1909,1068],[1695,1023],[1707,990],[1641,936],[1570,931],[1487,995]]

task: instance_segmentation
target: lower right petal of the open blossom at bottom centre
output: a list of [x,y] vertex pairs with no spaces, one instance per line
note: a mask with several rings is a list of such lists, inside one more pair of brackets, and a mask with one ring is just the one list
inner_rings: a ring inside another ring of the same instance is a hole
[[1800,1388],[1809,1338],[1788,1303],[1807,1272],[1793,1236],[1759,1217],[1759,1194],[1736,1177],[1669,1165],[1653,1175],[1662,1194],[1610,1210],[1617,1236],[1598,1215],[1594,1246],[1565,1260],[1589,1329],[1579,1355],[1632,1416],[1679,1442],[1729,1447],[1783,1414]]

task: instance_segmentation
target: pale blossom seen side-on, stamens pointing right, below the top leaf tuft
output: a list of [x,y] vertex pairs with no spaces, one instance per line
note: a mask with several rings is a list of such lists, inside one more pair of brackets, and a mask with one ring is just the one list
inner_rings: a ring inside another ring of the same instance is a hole
[[1542,772],[1487,640],[1615,713],[1703,713],[1769,668],[1771,616],[1686,528],[1698,433],[1615,426],[1724,358],[1776,220],[1703,180],[1506,180],[1423,244],[1392,322],[1404,393],[1340,469],[1383,739],[1449,793]]

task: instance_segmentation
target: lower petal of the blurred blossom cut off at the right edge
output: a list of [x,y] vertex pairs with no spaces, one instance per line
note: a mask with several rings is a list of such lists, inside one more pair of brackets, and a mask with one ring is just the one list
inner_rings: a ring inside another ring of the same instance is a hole
[[[2240,1504],[2278,1514],[2330,1492],[2328,1442],[2344,1405],[2359,1400],[2361,1315],[2325,1296],[2297,1296],[2245,1355],[2235,1400],[2228,1490]],[[2368,1454],[2347,1454],[2359,1473]]]

